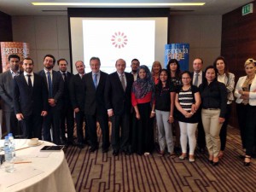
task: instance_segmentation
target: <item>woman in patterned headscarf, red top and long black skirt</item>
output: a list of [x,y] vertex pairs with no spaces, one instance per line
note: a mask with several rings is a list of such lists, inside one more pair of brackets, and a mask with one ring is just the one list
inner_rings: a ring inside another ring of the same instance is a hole
[[154,148],[154,81],[147,66],[138,68],[137,80],[132,84],[131,104],[137,124],[132,128],[131,147],[139,155],[148,155]]

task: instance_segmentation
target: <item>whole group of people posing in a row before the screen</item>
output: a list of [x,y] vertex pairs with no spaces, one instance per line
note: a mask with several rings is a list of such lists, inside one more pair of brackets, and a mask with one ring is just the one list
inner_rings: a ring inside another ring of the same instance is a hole
[[[235,90],[245,166],[250,165],[255,138],[256,123],[251,120],[256,114],[255,63],[253,59],[245,62],[247,76],[238,80]],[[202,59],[196,58],[193,73],[181,72],[176,59],[168,61],[166,69],[154,61],[151,71],[133,59],[131,73],[125,72],[126,62],[119,59],[116,72],[111,74],[100,70],[98,57],[90,58],[91,72],[86,74],[83,61],[75,63],[76,75],[67,72],[65,59],[57,64],[58,72],[53,70],[55,57],[45,55],[44,69],[33,73],[32,58],[25,58],[22,72],[20,57],[9,55],[10,69],[0,74],[8,132],[17,134],[21,125],[24,137],[69,145],[73,144],[75,120],[77,145],[83,148],[89,143],[93,153],[99,148],[98,122],[102,152],[107,153],[110,120],[114,156],[120,152],[148,155],[154,150],[155,140],[160,156],[175,157],[178,145],[182,149],[180,160],[194,162],[196,145],[200,151],[207,147],[212,166],[218,166],[224,156],[231,103],[235,100],[235,75],[229,73],[224,57],[216,58],[205,72]]]

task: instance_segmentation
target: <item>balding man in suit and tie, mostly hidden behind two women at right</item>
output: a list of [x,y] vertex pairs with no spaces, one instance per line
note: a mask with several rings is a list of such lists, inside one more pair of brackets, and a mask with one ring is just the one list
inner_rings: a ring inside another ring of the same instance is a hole
[[[202,83],[205,76],[205,73],[202,71],[202,66],[203,60],[201,58],[195,58],[193,61],[194,72],[192,73],[192,83],[197,87]],[[198,108],[197,110],[200,110],[198,113],[201,113],[201,108]],[[204,153],[206,149],[206,134],[201,119],[197,125],[197,145],[199,151]]]

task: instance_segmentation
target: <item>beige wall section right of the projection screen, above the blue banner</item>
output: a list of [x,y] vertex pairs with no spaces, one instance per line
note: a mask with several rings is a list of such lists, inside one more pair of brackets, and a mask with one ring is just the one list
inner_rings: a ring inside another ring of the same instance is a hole
[[171,15],[170,44],[189,44],[189,70],[195,57],[207,67],[220,55],[221,27],[221,15]]

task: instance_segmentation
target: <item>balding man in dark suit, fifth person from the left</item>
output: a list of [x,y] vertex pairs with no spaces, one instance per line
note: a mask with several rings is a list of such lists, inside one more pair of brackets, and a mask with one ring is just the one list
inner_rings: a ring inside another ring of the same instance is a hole
[[84,62],[76,61],[75,63],[76,69],[78,73],[73,75],[72,79],[70,79],[69,90],[70,90],[70,99],[73,106],[73,112],[75,113],[75,120],[77,123],[77,137],[78,143],[77,146],[79,148],[84,148],[84,144],[88,142],[88,125],[85,122],[85,137],[83,131],[84,125],[84,82],[82,80],[85,71],[84,71]]

